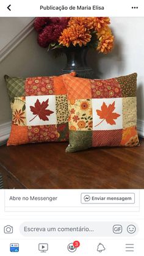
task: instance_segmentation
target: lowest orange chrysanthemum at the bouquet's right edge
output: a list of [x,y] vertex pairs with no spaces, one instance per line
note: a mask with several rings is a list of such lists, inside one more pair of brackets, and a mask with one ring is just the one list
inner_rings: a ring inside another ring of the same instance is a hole
[[113,35],[102,35],[99,37],[97,50],[99,53],[109,53],[113,48]]

